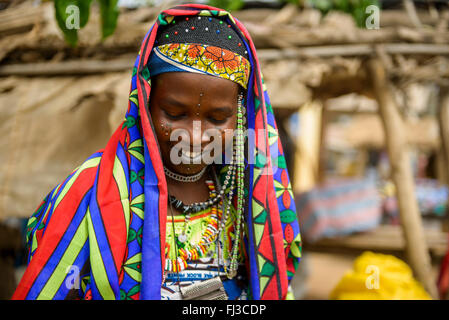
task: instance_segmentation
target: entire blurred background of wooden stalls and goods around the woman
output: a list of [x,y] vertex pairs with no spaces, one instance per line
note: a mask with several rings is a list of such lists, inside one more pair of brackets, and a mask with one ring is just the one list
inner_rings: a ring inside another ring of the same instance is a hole
[[[448,2],[188,2],[254,40],[301,226],[295,299],[449,298]],[[0,0],[0,299],[27,218],[105,146],[142,39],[181,3]]]

